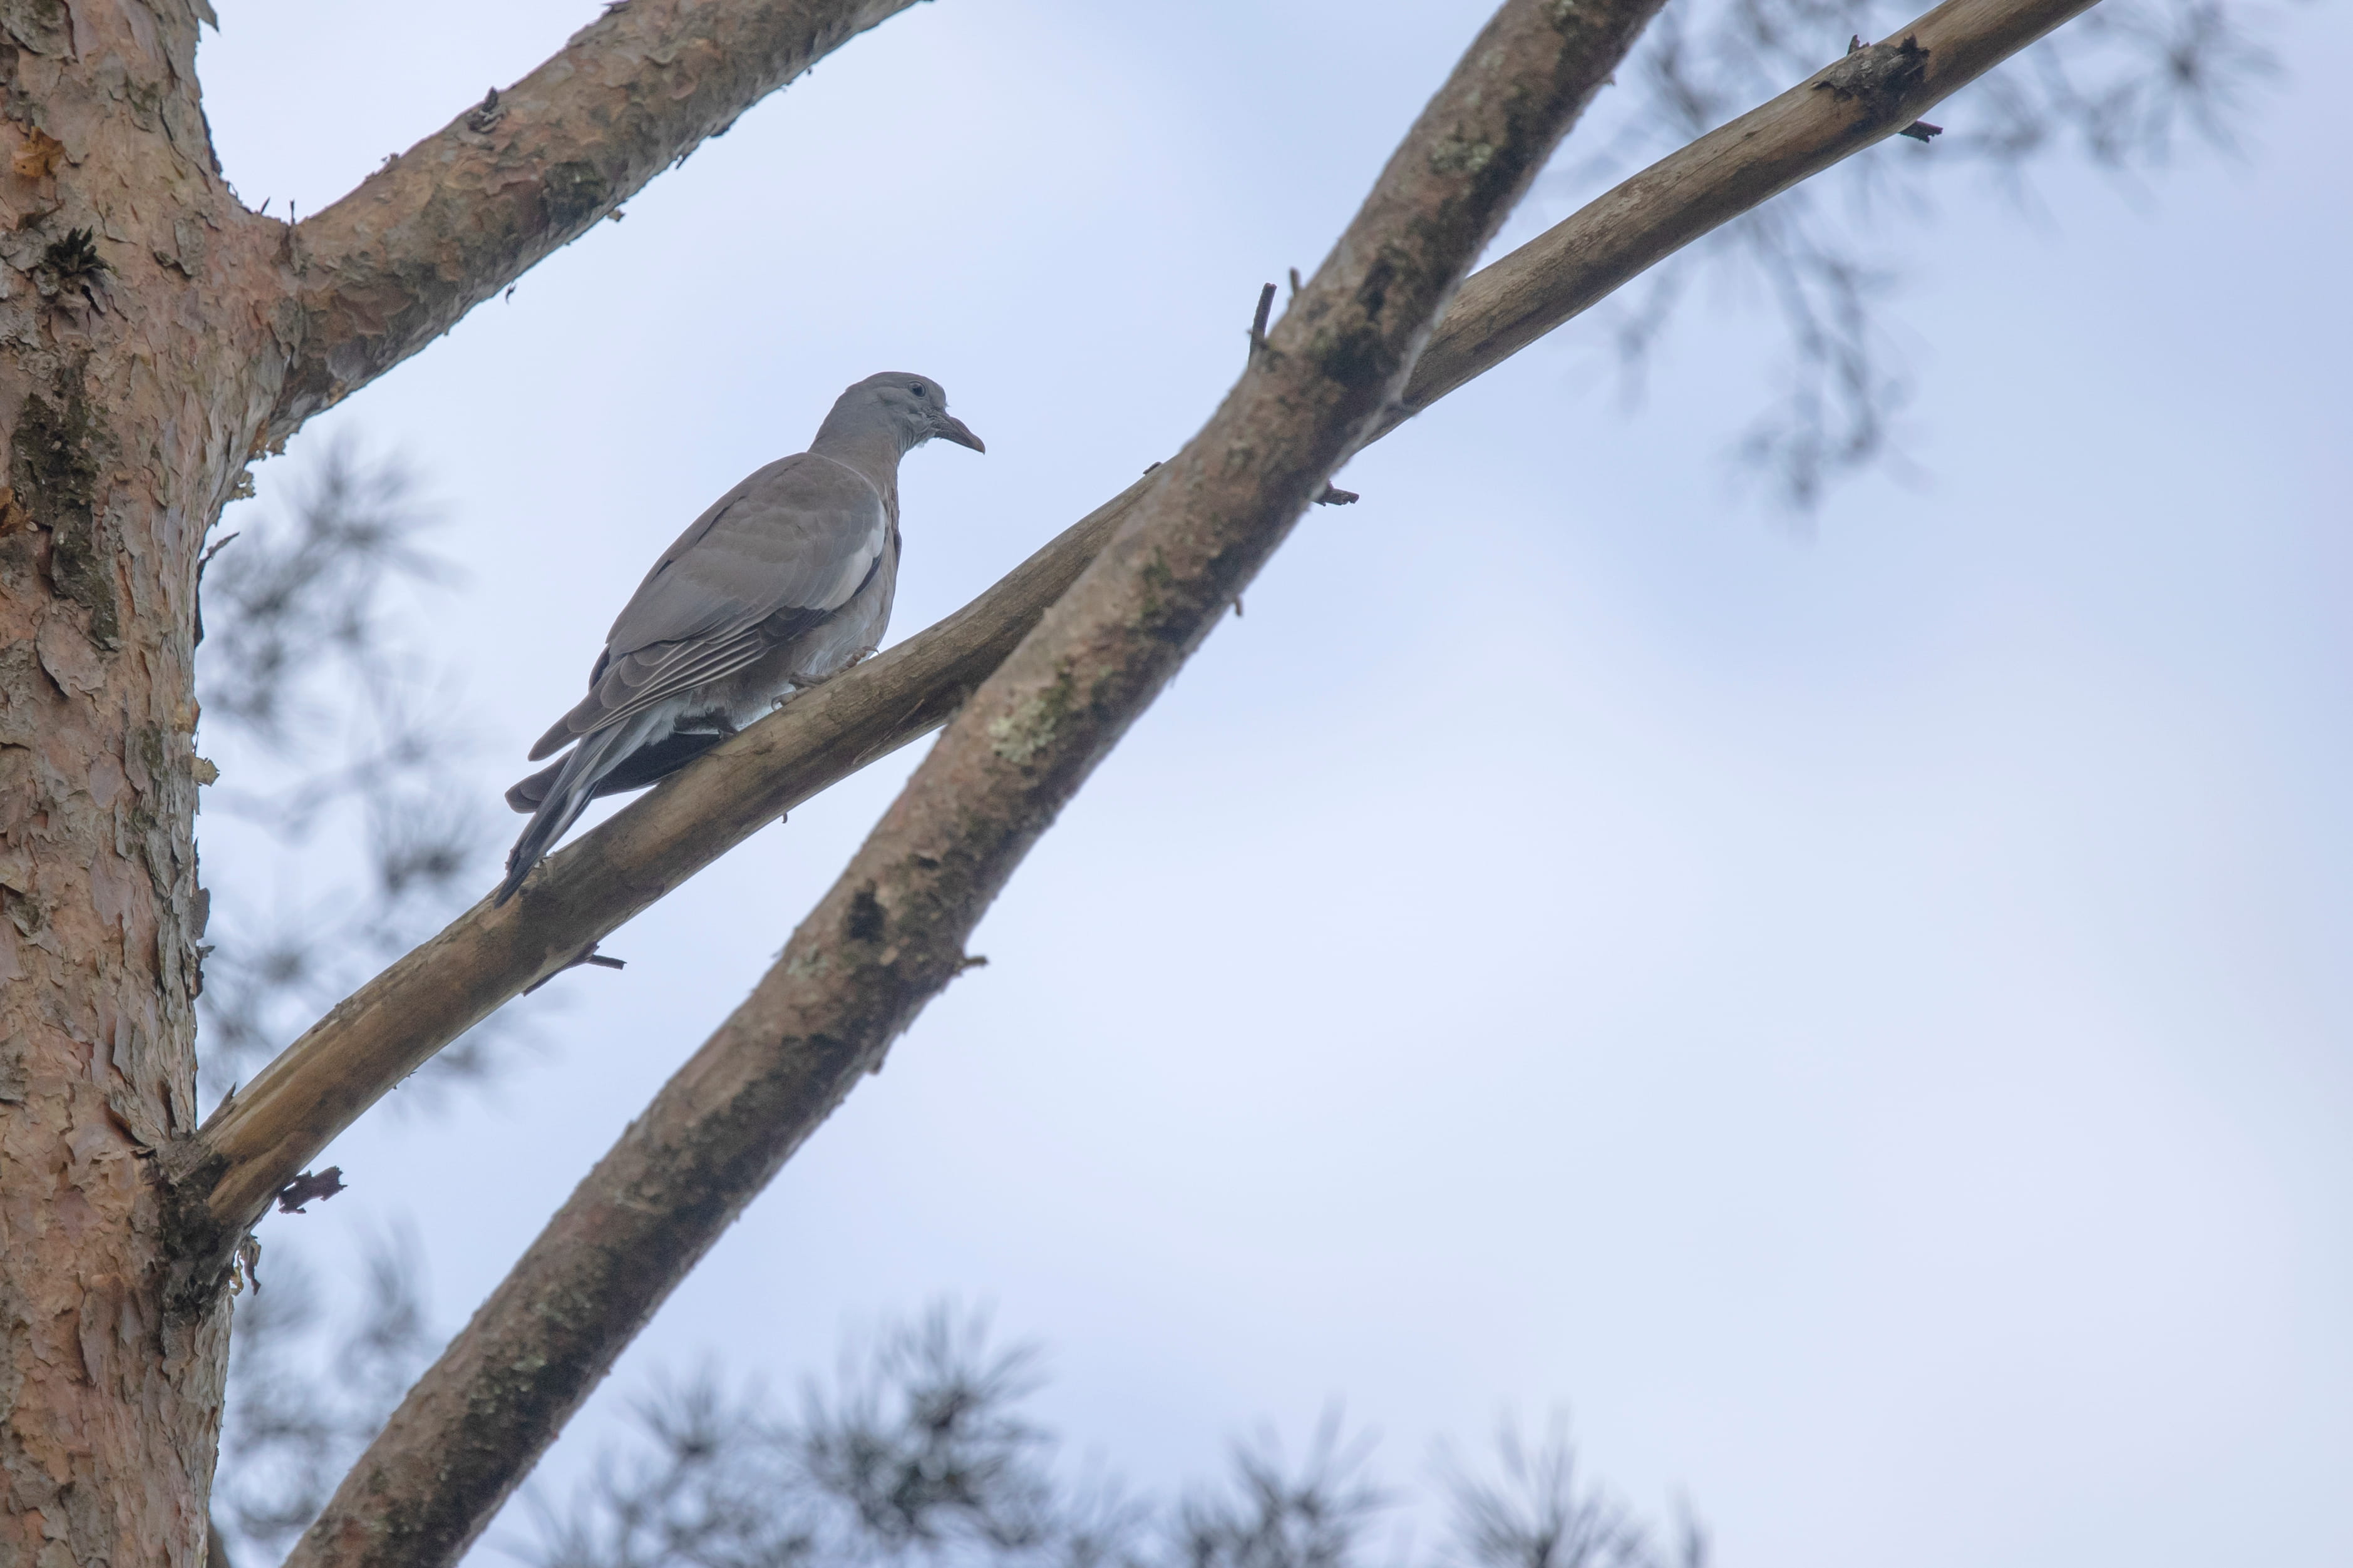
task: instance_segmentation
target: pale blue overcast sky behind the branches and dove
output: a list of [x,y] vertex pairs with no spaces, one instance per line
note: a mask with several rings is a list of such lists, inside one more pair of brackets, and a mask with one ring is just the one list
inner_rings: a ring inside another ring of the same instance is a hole
[[[595,5],[221,12],[228,176],[315,212]],[[1193,433],[1482,14],[918,7],[313,421],[264,505],[336,428],[414,458],[496,795],[652,555],[911,369],[988,440],[906,463],[913,632]],[[1332,1399],[1407,1481],[1565,1406],[1729,1568],[2353,1561],[2353,19],[2278,26],[2242,160],[2054,172],[2040,216],[1922,174],[1911,482],[1809,527],[1734,484],[1774,350],[1737,301],[1631,411],[1572,324],[1358,458],[548,1474],[659,1368],[791,1385],[953,1293],[1141,1486]],[[461,1324],[911,759],[264,1237],[412,1215]]]

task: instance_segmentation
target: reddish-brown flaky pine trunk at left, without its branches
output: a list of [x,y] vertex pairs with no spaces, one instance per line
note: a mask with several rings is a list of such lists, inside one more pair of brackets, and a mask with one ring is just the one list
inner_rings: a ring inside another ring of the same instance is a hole
[[205,1561],[228,1302],[174,1300],[153,1157],[195,1128],[198,548],[292,317],[200,16],[0,5],[0,1566]]

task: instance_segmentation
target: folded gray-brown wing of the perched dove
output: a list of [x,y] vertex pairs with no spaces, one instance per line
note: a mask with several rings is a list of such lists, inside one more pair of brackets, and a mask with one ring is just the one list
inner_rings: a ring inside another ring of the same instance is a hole
[[856,470],[802,451],[694,520],[612,623],[588,696],[532,762],[725,679],[835,614],[882,564],[889,508]]

